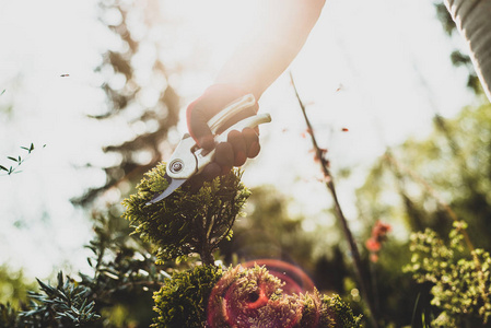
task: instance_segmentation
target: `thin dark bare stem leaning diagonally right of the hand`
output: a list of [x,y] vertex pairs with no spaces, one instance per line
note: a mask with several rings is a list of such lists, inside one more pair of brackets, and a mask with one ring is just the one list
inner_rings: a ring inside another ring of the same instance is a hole
[[372,314],[370,316],[370,318],[372,320],[372,325],[373,325],[373,327],[376,328],[376,327],[378,327],[378,324],[376,321],[375,307],[373,305],[371,297],[369,297],[365,281],[363,279],[363,269],[362,269],[360,251],[358,249],[356,242],[354,241],[353,234],[351,233],[351,230],[349,227],[348,220],[346,219],[344,213],[342,212],[341,206],[339,203],[339,199],[338,199],[338,195],[336,192],[336,187],[335,187],[335,183],[332,179],[332,175],[329,169],[329,162],[325,159],[324,152],[317,143],[317,140],[316,140],[315,133],[314,133],[314,128],[311,124],[311,120],[308,119],[307,113],[305,110],[305,105],[299,95],[299,91],[296,90],[296,85],[295,85],[295,82],[293,80],[293,75],[291,72],[290,72],[290,80],[291,80],[293,90],[295,92],[295,96],[299,102],[300,108],[302,110],[303,117],[305,119],[305,124],[307,125],[307,130],[311,134],[311,140],[312,140],[312,144],[314,145],[316,156],[319,160],[320,169],[322,169],[325,180],[326,180],[326,187],[332,197],[332,200],[335,203],[336,216],[337,216],[338,221],[341,223],[344,238],[348,241],[348,244],[350,246],[350,251],[351,251],[351,255],[353,257],[353,262],[354,262],[354,272],[356,274],[356,278],[358,278],[358,281],[360,284],[361,294],[363,295],[363,298],[366,300],[366,305],[369,306],[369,311]]

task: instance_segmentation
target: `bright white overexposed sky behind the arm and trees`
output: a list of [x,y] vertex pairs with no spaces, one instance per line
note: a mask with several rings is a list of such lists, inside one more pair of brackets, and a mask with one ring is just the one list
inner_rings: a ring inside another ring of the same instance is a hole
[[[154,38],[162,39],[171,71],[184,67],[171,79],[184,107],[212,83],[260,2],[161,1],[169,27]],[[26,267],[31,276],[46,277],[63,263],[84,266],[82,245],[91,226],[69,198],[102,184],[104,176],[74,167],[110,161],[101,147],[133,133],[120,121],[107,130],[84,118],[104,102],[93,69],[110,45],[96,22],[96,3],[0,0],[0,93],[5,90],[0,108],[13,105],[10,113],[0,112],[0,164],[22,154],[21,145],[47,144],[35,150],[21,174],[0,176],[0,262]],[[434,108],[453,116],[471,102],[466,72],[448,59],[460,44],[444,35],[428,0],[327,1],[291,71],[335,169],[353,168],[354,178],[338,188],[354,226],[352,191],[363,180],[362,168],[387,144],[424,136]],[[264,151],[246,171],[246,185],[274,184],[299,199],[296,211],[318,218],[327,195],[316,180],[309,141],[301,137],[305,125],[288,74],[260,107],[273,122],[261,128]]]

